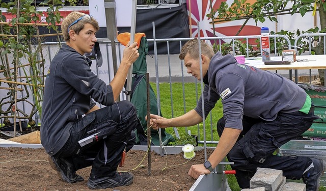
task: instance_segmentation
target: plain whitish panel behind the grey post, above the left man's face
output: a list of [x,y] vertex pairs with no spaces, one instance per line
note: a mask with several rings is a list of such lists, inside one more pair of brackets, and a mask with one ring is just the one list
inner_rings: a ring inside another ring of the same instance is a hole
[[[107,6],[116,7],[117,26],[131,26],[132,1],[137,0],[116,0],[106,3]],[[104,0],[89,1],[90,15],[98,22],[100,27],[106,26]],[[133,18],[135,19],[135,18]]]

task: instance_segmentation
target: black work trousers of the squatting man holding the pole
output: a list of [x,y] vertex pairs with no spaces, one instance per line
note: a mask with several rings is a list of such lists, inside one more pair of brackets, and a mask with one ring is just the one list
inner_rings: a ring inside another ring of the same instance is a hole
[[[70,137],[55,157],[72,162],[75,171],[92,166],[94,176],[110,177],[115,175],[126,146],[128,151],[135,143],[132,130],[140,122],[132,103],[119,101],[68,125]],[[93,141],[80,146],[78,141],[89,136]]]

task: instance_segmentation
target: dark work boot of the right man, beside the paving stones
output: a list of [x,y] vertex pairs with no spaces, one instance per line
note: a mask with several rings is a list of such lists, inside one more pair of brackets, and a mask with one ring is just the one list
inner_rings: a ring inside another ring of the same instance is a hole
[[324,174],[326,162],[318,158],[310,159],[311,161],[308,162],[309,166],[302,175],[302,180],[306,184],[306,191],[316,191],[319,190],[319,180]]

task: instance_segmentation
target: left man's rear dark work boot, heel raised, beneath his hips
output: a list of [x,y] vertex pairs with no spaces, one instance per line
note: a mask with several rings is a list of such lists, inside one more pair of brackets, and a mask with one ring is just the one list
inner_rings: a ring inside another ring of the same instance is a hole
[[52,169],[58,172],[58,176],[61,180],[68,183],[84,181],[83,177],[76,174],[73,164],[66,159],[55,158],[49,155],[48,160]]

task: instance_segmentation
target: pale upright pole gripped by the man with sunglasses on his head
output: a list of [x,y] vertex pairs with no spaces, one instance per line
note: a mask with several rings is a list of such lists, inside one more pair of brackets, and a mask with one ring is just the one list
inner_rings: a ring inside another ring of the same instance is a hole
[[[131,27],[130,27],[130,44],[134,41],[134,34],[136,28],[136,11],[137,11],[137,0],[132,0],[132,10],[131,10]],[[131,96],[131,84],[132,84],[132,65],[129,68],[127,75],[127,89],[126,100],[130,101]]]

